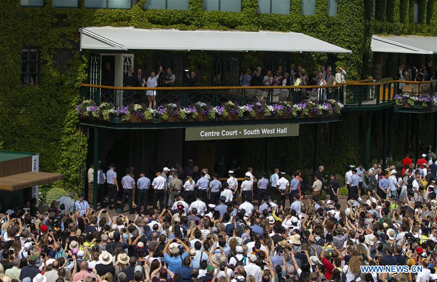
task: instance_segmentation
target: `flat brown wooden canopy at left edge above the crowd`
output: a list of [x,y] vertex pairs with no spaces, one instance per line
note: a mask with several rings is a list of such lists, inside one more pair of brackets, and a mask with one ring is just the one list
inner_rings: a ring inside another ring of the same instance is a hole
[[62,180],[62,174],[30,171],[0,178],[0,190],[15,191]]

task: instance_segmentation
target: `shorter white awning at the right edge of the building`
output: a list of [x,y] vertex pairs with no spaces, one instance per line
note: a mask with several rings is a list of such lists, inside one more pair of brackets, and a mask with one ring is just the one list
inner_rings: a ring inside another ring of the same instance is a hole
[[373,35],[371,47],[373,52],[437,54],[437,37]]

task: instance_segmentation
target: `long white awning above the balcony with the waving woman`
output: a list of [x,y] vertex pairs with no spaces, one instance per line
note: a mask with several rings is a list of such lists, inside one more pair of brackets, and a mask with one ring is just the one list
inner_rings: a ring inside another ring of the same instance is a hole
[[295,32],[182,31],[109,26],[85,27],[79,32],[81,49],[351,53],[350,50]]

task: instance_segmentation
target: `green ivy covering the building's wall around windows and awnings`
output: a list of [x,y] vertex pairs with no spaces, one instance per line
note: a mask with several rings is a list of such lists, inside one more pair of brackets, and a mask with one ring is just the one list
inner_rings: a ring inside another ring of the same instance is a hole
[[[349,79],[365,78],[371,70],[371,34],[437,34],[437,0],[420,1],[420,24],[411,23],[414,15],[407,7],[411,7],[411,0],[378,0],[377,20],[373,20],[373,0],[338,0],[335,17],[328,16],[328,0],[316,0],[314,16],[301,15],[301,0],[290,0],[291,8],[287,15],[258,14],[257,0],[243,0],[241,13],[204,11],[203,0],[190,0],[188,11],[143,10],[145,1],[138,0],[138,4],[128,10],[112,10],[87,9],[84,0],[79,8],[54,8],[52,0],[45,0],[44,7],[20,7],[19,0],[0,0],[3,17],[0,23],[0,85],[3,92],[0,95],[1,149],[40,153],[42,171],[64,174],[65,181],[56,185],[66,189],[81,189],[87,136],[78,127],[74,105],[79,99],[78,86],[86,80],[87,56],[81,56],[79,52],[77,31],[80,27],[108,25],[302,32],[352,50],[352,54],[336,55],[337,65],[348,70]],[[37,86],[21,86],[23,47],[36,47],[39,50],[41,80]],[[188,54],[190,67],[199,64],[210,66],[211,59],[207,53],[198,55],[194,52]],[[294,57],[297,63],[310,70],[327,59],[326,54],[317,53],[297,54]],[[247,53],[242,67],[253,68],[259,61],[259,54]],[[349,159],[362,159],[361,152],[353,150],[353,142],[356,141],[351,142],[346,135],[340,134],[342,130],[350,130],[350,125],[355,124],[359,116],[346,114],[343,121],[335,125],[339,132],[335,145],[338,151],[321,151],[323,161],[341,162],[335,166],[340,169],[346,161],[340,161],[340,158],[346,155]],[[361,136],[363,129],[353,128],[353,132],[353,136]],[[311,130],[304,133],[305,138],[311,139]],[[393,140],[398,137],[396,134],[391,135]],[[303,141],[302,144],[311,144],[306,142],[309,140]],[[278,149],[275,150],[285,150],[283,144],[278,141],[274,147]],[[374,145],[380,148],[379,144]],[[258,147],[262,146],[258,144]],[[301,167],[308,167],[311,151],[301,150],[299,154]]]

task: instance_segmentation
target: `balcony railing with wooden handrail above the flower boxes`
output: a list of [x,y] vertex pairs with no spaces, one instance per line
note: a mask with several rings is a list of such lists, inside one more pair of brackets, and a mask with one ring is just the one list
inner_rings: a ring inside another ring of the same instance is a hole
[[315,104],[327,99],[337,100],[346,106],[380,106],[392,104],[396,94],[400,93],[434,95],[437,92],[437,80],[433,81],[386,81],[373,82],[372,79],[349,81],[331,86],[228,86],[228,87],[113,87],[104,85],[81,84],[82,100],[93,100],[113,104],[115,108],[128,104],[148,104],[146,91],[156,91],[157,106],[175,103],[181,107],[196,102],[209,103],[212,106],[232,101],[236,105],[264,102],[272,105],[281,101],[293,104],[313,101]]

